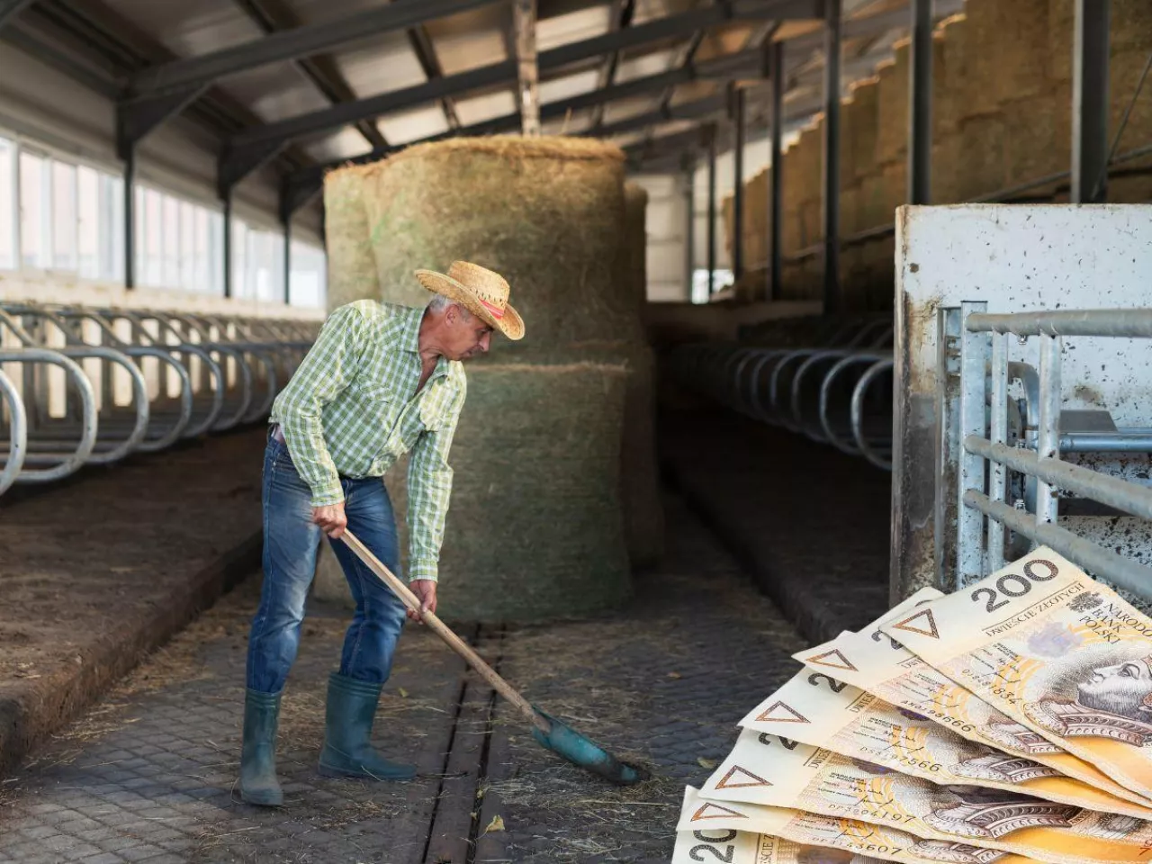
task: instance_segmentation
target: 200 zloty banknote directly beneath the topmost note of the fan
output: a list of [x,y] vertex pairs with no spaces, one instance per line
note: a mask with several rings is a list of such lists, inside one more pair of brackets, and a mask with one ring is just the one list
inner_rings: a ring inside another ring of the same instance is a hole
[[[988,744],[1081,780],[1087,787],[1077,791],[1086,796],[1084,806],[1114,809],[1108,806],[1108,801],[1119,797],[1146,808],[1149,801],[1142,795],[1006,715],[882,631],[885,622],[914,620],[922,614],[926,601],[934,602],[942,597],[934,589],[923,589],[861,632],[842,632],[832,642],[793,657],[813,672],[874,694],[897,708],[927,717],[969,741]],[[1091,803],[1091,798],[1097,801]]]

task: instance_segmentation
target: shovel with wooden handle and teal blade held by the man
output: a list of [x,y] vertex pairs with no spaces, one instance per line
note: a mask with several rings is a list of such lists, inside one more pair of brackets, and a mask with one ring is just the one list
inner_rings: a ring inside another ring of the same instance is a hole
[[[356,553],[356,556],[364,562],[365,567],[392,589],[393,593],[403,601],[404,606],[412,612],[419,612],[420,601],[416,594],[392,570],[380,563],[380,560],[351,531],[344,529],[340,539],[348,545],[348,548]],[[641,768],[620,761],[607,750],[588,740],[570,726],[532,706],[528,699],[511,688],[511,684],[500,677],[495,669],[484,662],[480,655],[472,651],[468,643],[456,636],[433,613],[424,612],[420,616],[424,619],[424,623],[432,628],[435,635],[444,639],[448,647],[464,658],[465,662],[492,685],[493,690],[520,710],[520,713],[532,725],[532,737],[543,746],[556,753],[556,756],[567,759],[573,765],[585,771],[591,771],[593,774],[599,774],[619,786],[630,786],[644,779],[645,774]]]

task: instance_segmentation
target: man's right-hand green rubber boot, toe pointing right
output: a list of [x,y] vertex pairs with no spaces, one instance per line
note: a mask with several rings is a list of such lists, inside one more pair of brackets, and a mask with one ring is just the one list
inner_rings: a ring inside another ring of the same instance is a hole
[[363,776],[371,780],[410,780],[416,766],[388,761],[372,749],[372,720],[380,702],[381,684],[357,681],[339,673],[328,677],[324,750],[320,773],[325,776]]

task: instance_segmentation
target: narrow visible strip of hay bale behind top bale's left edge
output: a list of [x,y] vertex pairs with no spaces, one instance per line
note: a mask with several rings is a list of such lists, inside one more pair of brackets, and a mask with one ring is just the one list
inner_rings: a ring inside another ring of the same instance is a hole
[[349,165],[324,177],[324,218],[328,252],[328,309],[378,296],[376,256],[364,212],[367,168]]

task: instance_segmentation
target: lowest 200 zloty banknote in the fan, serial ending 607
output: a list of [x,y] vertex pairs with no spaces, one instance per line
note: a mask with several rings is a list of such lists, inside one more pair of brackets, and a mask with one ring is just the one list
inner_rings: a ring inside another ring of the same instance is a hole
[[705,801],[692,787],[676,826],[673,864],[1030,864],[971,843],[924,840],[869,825],[781,808]]

